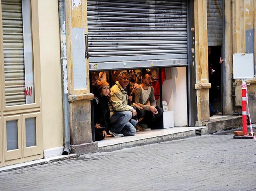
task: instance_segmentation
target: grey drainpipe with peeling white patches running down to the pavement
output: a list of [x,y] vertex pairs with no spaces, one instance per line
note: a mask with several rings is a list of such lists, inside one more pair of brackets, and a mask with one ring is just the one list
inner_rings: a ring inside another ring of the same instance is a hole
[[64,123],[64,150],[62,154],[70,152],[70,126],[69,126],[69,105],[67,91],[67,55],[66,55],[66,24],[65,24],[65,0],[58,0],[60,20],[60,53],[62,71],[62,104]]

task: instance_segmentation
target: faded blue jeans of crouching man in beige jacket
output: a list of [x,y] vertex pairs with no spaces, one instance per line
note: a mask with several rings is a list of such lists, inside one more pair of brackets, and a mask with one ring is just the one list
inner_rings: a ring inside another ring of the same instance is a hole
[[136,134],[136,121],[132,119],[132,123],[129,120],[132,118],[132,112],[130,111],[116,111],[110,118],[110,130],[112,132],[121,133],[124,136],[133,136]]

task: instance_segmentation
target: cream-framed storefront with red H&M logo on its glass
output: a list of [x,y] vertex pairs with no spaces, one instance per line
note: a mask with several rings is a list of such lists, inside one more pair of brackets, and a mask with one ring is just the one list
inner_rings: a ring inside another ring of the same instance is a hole
[[0,4],[0,167],[43,158],[37,7],[29,0]]

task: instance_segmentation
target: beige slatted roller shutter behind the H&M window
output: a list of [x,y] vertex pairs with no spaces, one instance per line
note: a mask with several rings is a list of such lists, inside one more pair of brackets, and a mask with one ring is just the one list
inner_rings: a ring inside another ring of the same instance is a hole
[[6,106],[26,104],[21,0],[2,0]]

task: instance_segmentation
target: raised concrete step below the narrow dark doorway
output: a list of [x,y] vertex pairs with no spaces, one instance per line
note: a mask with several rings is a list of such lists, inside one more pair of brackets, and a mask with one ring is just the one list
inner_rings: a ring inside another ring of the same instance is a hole
[[221,132],[242,127],[242,116],[213,116],[210,121],[202,122],[203,126],[208,126],[208,133]]

